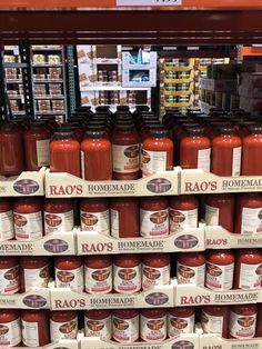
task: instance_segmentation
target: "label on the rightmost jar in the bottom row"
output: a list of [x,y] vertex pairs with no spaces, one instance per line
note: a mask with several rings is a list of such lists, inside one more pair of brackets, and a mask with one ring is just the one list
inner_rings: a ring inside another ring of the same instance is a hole
[[230,311],[229,332],[234,338],[253,338],[255,335],[256,313],[241,316]]

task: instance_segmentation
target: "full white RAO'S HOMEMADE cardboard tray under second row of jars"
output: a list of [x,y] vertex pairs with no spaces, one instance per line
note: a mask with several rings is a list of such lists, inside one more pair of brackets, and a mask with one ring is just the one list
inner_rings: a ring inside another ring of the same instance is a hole
[[94,231],[78,231],[78,255],[97,253],[149,253],[203,251],[205,249],[204,229],[187,229],[167,238],[117,239]]

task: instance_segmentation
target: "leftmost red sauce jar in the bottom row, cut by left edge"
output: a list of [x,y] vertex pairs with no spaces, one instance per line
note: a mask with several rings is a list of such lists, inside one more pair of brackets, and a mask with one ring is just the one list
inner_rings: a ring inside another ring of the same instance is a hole
[[22,346],[21,319],[17,309],[0,309],[0,347]]

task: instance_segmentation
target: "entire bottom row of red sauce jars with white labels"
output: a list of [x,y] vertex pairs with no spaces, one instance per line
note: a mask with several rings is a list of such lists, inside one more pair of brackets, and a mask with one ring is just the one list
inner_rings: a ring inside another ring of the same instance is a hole
[[[200,310],[200,311],[199,311]],[[59,340],[100,337],[120,343],[161,342],[182,333],[194,333],[199,320],[203,333],[250,339],[262,336],[261,305],[177,307],[120,310],[0,310],[4,348],[39,347]],[[259,312],[260,311],[260,312]]]

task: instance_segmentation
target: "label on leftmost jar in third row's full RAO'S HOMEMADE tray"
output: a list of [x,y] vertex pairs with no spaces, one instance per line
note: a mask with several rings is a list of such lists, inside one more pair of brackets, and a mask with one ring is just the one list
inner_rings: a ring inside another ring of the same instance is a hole
[[83,266],[72,270],[54,268],[54,272],[56,287],[70,287],[74,291],[83,291]]

